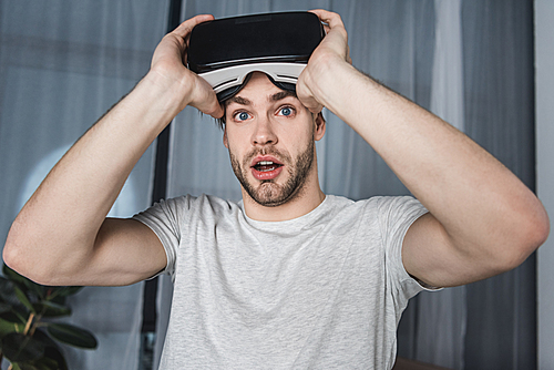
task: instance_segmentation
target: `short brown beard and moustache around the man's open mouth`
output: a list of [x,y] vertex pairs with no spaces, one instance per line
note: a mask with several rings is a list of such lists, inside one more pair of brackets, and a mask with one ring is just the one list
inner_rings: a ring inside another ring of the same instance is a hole
[[[306,179],[314,164],[314,140],[310,140],[306,150],[298,155],[296,161],[293,161],[290,155],[281,153],[276,148],[266,147],[250,151],[242,164],[230,150],[229,157],[235,176],[237,176],[238,182],[250,198],[259,205],[276,207],[296,198],[302,193]],[[247,175],[250,169],[252,160],[258,154],[274,155],[286,165],[288,179],[285,184],[277,184],[274,179],[266,179],[261,181],[258,187],[255,187],[248,181]]]

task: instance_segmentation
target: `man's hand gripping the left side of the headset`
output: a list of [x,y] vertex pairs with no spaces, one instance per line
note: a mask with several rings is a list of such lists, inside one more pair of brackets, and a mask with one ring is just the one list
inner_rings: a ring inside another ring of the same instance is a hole
[[214,90],[204,79],[186,68],[186,53],[193,28],[213,19],[213,16],[196,16],[167,33],[154,52],[147,78],[154,78],[167,88],[177,89],[182,96],[179,110],[192,105],[214,119],[219,119],[224,112]]

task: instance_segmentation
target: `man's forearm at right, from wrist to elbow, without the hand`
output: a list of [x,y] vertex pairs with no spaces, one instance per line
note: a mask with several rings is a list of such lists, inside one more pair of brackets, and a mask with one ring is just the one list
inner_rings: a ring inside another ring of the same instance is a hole
[[321,81],[324,105],[379,153],[456,247],[497,256],[523,244],[529,248],[515,255],[525,255],[542,243],[544,233],[535,233],[547,219],[542,205],[499,161],[350,65],[332,68]]

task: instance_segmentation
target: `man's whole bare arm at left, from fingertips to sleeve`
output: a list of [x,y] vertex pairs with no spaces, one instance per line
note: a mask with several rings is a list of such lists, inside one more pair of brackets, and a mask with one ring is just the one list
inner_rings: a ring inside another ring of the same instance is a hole
[[151,71],[54,166],[16,218],[4,261],[47,285],[126,285],[165,267],[163,247],[132,219],[105,218],[132,168],[186,105],[223,115],[212,88],[183,65],[198,16],[167,34]]

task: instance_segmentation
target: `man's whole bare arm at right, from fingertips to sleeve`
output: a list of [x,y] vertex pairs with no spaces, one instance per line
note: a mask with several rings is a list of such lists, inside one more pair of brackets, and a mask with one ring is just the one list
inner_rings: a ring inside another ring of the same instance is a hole
[[404,238],[408,273],[454,286],[525,260],[550,227],[534,194],[463,133],[352,68],[340,18],[316,12],[329,32],[300,76],[299,97],[348,123],[430,210]]

